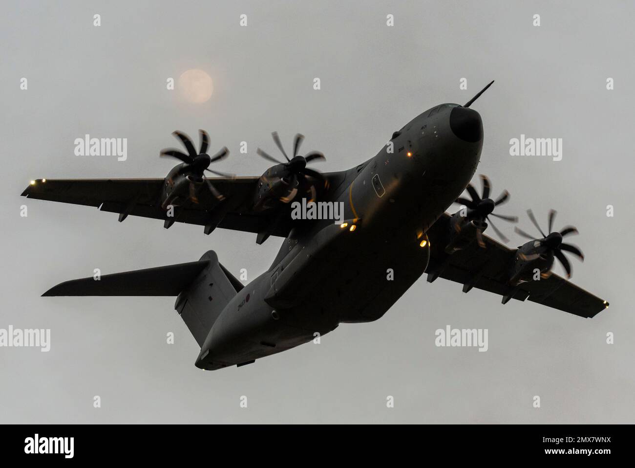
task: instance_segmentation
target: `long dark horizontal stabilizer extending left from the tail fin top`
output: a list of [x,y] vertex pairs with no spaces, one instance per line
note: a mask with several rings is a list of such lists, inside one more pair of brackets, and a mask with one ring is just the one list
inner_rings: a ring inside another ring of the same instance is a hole
[[178,296],[209,263],[208,260],[158,266],[133,272],[70,280],[43,296]]

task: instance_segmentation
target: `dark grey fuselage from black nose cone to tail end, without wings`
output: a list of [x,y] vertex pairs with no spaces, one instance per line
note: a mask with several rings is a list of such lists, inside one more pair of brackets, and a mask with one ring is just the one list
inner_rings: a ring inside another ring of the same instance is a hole
[[323,200],[344,203],[345,226],[321,220],[292,230],[269,270],[220,313],[196,366],[248,363],[341,322],[384,315],[424,272],[425,232],[464,191],[482,146],[479,114],[457,104],[433,107],[395,132]]

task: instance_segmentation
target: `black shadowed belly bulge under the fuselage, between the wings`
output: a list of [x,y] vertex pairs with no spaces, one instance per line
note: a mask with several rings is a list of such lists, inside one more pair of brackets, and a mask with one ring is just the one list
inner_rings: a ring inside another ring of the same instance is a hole
[[319,254],[296,256],[265,300],[291,326],[321,334],[340,322],[377,320],[424,272],[429,248],[419,243],[414,228],[344,230]]

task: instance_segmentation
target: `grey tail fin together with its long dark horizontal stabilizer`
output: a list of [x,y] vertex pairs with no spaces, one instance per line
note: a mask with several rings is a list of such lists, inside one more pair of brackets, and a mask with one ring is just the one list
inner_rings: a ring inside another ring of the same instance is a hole
[[43,296],[178,296],[174,308],[203,345],[220,312],[243,285],[218,263],[214,251],[199,261],[70,280]]

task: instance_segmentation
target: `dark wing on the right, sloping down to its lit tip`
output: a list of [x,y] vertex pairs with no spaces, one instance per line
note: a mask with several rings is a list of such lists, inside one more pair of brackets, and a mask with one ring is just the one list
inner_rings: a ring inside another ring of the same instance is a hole
[[516,249],[509,249],[486,235],[483,235],[485,248],[473,242],[461,251],[446,254],[444,238],[449,220],[450,215],[445,213],[427,231],[431,249],[425,270],[428,282],[441,277],[464,285],[464,292],[476,287],[503,296],[503,303],[511,298],[529,299],[586,318],[595,317],[608,307],[608,302],[555,273],[547,279],[509,286],[507,280]]

